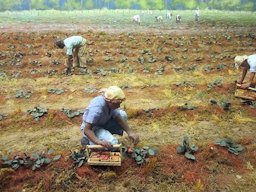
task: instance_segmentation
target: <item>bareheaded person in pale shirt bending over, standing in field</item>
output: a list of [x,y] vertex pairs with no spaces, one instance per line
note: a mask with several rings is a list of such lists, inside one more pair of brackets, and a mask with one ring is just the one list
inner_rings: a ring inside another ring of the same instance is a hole
[[63,49],[67,49],[66,74],[71,73],[72,67],[84,67],[86,61],[81,61],[81,57],[85,55],[86,39],[81,36],[71,36],[64,40],[58,40],[55,45]]

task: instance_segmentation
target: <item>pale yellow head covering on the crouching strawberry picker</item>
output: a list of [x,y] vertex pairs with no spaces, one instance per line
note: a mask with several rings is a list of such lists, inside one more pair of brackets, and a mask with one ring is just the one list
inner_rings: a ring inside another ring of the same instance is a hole
[[125,100],[125,94],[120,87],[110,86],[107,89],[103,89],[105,100],[113,103],[120,103]]

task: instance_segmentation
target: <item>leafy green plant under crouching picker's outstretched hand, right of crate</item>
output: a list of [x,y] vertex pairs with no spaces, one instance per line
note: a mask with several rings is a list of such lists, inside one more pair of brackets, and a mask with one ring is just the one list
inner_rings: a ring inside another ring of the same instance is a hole
[[142,148],[124,147],[123,150],[124,153],[127,153],[129,157],[132,157],[136,161],[137,165],[147,163],[150,156],[155,156],[157,154],[156,149],[147,146]]

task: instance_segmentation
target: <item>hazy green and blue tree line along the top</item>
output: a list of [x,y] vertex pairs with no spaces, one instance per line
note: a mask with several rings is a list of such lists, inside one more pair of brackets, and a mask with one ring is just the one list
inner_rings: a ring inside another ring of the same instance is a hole
[[6,10],[186,10],[218,9],[255,11],[256,0],[0,0],[0,11]]

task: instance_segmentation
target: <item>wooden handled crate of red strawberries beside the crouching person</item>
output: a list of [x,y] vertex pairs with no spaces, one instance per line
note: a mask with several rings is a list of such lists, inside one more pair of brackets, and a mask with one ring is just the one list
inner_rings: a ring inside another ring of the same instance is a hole
[[113,149],[117,149],[117,152],[107,151],[101,145],[87,145],[88,165],[121,166],[122,147],[117,144],[113,145]]

